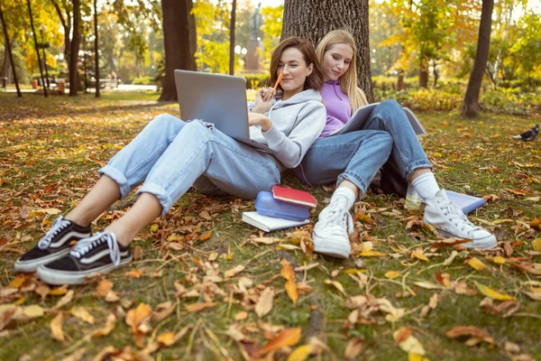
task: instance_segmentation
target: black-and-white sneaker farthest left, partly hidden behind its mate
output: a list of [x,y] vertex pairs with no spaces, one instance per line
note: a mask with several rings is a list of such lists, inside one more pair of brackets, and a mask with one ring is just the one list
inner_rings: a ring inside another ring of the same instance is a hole
[[36,272],[41,264],[49,264],[69,254],[72,242],[92,236],[92,229],[80,227],[68,219],[56,218],[37,245],[15,262],[16,272]]

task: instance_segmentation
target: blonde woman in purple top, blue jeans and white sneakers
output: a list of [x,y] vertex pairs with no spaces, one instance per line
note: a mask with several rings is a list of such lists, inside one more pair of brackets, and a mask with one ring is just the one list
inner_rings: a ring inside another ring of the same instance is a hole
[[412,183],[426,202],[425,223],[435,226],[440,234],[471,239],[466,246],[496,246],[496,238],[473,226],[462,210],[447,199],[445,190],[440,190],[432,165],[396,101],[386,100],[376,106],[364,130],[329,136],[367,104],[362,90],[357,88],[355,52],[353,36],[344,30],[329,32],[316,48],[325,81],[321,95],[327,120],[296,173],[309,184],[336,181],[337,185],[314,227],[316,252],[339,258],[350,255],[348,231],[353,231],[353,219],[349,210],[356,199],[362,198],[381,167],[382,188],[404,196],[408,182]]

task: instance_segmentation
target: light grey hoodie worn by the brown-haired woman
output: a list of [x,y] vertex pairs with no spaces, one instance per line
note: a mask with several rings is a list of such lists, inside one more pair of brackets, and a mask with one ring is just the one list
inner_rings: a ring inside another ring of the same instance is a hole
[[[253,102],[249,102],[248,108],[252,106]],[[297,167],[326,125],[326,108],[314,89],[301,91],[288,100],[274,99],[265,116],[271,119],[271,129],[263,132],[261,126],[252,125],[250,138],[271,148],[280,171]]]

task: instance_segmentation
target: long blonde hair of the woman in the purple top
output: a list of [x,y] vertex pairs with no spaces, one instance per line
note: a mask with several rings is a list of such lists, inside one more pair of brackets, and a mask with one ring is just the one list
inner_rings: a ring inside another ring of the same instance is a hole
[[359,109],[361,106],[367,105],[368,100],[361,88],[357,87],[357,65],[355,60],[355,55],[357,53],[357,46],[355,45],[355,40],[353,35],[343,29],[333,30],[328,32],[324,38],[317,44],[316,56],[317,60],[323,68],[323,58],[326,51],[330,50],[331,47],[335,44],[343,43],[352,47],[353,49],[353,58],[352,62],[349,65],[347,71],[338,79],[338,84],[340,88],[344,91],[345,94],[350,98],[350,103],[352,105],[352,114]]

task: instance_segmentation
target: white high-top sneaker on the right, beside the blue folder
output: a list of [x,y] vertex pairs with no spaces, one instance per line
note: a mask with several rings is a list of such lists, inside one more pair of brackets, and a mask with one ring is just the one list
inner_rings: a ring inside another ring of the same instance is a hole
[[445,190],[438,190],[433,199],[425,199],[424,222],[436,227],[442,236],[471,239],[464,247],[491,249],[496,247],[496,237],[481,227],[473,226],[461,208],[447,198]]

